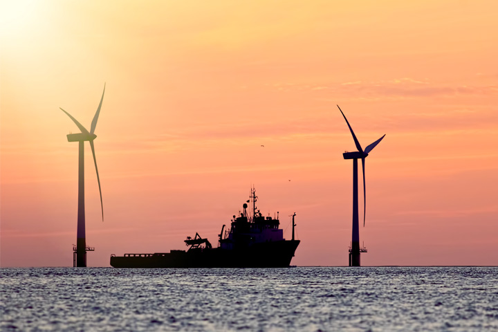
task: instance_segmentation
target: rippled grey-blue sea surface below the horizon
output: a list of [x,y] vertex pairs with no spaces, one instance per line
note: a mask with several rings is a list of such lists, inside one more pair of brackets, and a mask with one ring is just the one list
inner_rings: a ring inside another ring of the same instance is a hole
[[498,331],[498,268],[1,268],[0,331]]

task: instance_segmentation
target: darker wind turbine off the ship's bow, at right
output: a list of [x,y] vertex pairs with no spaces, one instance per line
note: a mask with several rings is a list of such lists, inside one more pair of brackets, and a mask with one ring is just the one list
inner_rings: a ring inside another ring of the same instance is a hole
[[367,190],[365,189],[365,158],[367,158],[369,152],[373,150],[376,145],[378,145],[382,138],[384,138],[385,134],[363,150],[360,142],[358,142],[358,139],[354,134],[353,128],[349,125],[346,116],[342,113],[339,105],[337,106],[344,117],[344,120],[346,120],[349,130],[351,131],[351,135],[353,135],[356,149],[358,149],[358,151],[355,152],[344,152],[342,156],[344,156],[344,159],[353,159],[353,239],[351,241],[351,248],[349,248],[349,266],[360,266],[360,252],[367,252],[367,249],[360,248],[360,230],[358,227],[358,159],[362,160],[363,168],[363,202],[365,204],[363,207],[363,227],[365,227],[365,209],[367,208]]

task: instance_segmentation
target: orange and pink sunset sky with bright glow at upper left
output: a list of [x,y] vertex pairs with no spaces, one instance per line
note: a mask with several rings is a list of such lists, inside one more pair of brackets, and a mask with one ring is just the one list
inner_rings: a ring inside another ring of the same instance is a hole
[[[214,244],[254,186],[347,266],[351,133],[363,266],[498,265],[497,1],[1,1],[0,266],[72,266],[77,144],[88,266]],[[261,147],[264,145],[264,147]],[[360,192],[362,188],[360,187]],[[360,195],[360,215],[363,202]],[[216,245],[215,245],[216,246]]]

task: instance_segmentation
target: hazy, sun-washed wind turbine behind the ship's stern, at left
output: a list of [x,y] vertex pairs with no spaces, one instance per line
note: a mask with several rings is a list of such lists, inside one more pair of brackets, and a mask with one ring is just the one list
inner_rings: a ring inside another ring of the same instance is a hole
[[[102,221],[104,221],[104,205],[102,205],[102,190],[100,190],[100,178],[98,176],[98,168],[97,168],[97,159],[95,158],[95,147],[93,146],[93,140],[97,138],[95,135],[95,127],[97,127],[97,120],[100,113],[100,107],[102,107],[102,100],[104,100],[104,92],[105,92],[105,84],[104,91],[102,92],[102,98],[100,98],[100,104],[98,106],[97,111],[95,112],[95,116],[93,116],[93,120],[91,122],[90,131],[86,130],[85,127],[77,122],[71,114],[68,112],[62,111],[68,115],[73,122],[80,129],[81,133],[70,133],[67,135],[68,142],[79,142],[79,153],[78,153],[78,216],[77,216],[77,235],[76,235],[76,260],[73,262],[73,266],[77,267],[86,267],[86,252],[93,251],[93,248],[86,247],[86,238],[85,238],[85,216],[84,216],[84,144],[83,142],[88,140],[90,142],[90,147],[93,154],[93,162],[95,163],[95,171],[97,172],[97,181],[99,185],[100,192],[100,207],[102,208]],[[74,250],[74,248],[73,248]],[[75,263],[75,264],[74,264]]]

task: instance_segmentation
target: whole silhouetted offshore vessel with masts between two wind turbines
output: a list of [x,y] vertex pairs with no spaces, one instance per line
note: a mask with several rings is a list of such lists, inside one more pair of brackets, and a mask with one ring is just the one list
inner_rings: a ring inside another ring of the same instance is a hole
[[[263,216],[256,207],[255,188],[251,188],[252,205],[243,204],[243,212],[234,215],[230,229],[225,225],[218,235],[219,246],[213,248],[208,239],[198,233],[187,237],[187,250],[171,250],[147,254],[111,255],[114,268],[284,268],[291,264],[299,240],[294,237],[295,223],[293,214],[292,239],[284,239],[277,217]],[[223,232],[224,231],[224,232]]]

